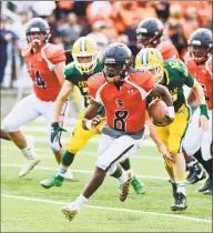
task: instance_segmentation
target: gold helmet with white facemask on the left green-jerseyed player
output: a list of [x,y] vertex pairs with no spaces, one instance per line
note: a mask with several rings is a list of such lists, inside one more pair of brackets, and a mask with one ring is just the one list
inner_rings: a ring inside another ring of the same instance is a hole
[[81,73],[89,73],[98,64],[98,47],[95,41],[89,37],[79,38],[72,48],[72,57],[75,68]]

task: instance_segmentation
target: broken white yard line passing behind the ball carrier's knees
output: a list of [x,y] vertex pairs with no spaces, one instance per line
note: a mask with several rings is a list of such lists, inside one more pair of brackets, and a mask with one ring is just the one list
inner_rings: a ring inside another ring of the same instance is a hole
[[[14,145],[1,145],[2,149],[7,149],[7,150],[17,150],[17,148]],[[34,151],[38,152],[49,152],[51,153],[50,149],[42,149],[42,148],[35,148]],[[44,153],[40,153],[40,154],[44,154]],[[90,152],[90,151],[80,151],[79,155],[86,155],[86,156],[98,156],[96,152]],[[41,158],[49,158],[52,159],[53,155],[40,155]],[[144,154],[136,154],[136,155],[131,155],[131,158],[135,158],[139,160],[152,160],[152,161],[159,161],[159,162],[164,162],[162,156],[156,156],[156,155],[144,155]]]

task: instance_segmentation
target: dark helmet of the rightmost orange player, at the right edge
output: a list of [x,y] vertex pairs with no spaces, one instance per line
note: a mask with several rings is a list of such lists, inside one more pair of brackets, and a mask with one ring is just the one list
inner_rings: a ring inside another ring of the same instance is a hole
[[212,54],[213,34],[205,28],[195,30],[188,40],[188,50],[195,62],[204,62]]

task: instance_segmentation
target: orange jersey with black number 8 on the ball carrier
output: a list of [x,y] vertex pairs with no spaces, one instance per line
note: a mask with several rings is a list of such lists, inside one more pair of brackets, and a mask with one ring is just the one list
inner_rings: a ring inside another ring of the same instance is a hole
[[144,129],[145,98],[154,84],[149,71],[133,70],[120,90],[108,83],[102,73],[94,74],[88,80],[88,90],[89,95],[104,104],[110,128],[135,133]]

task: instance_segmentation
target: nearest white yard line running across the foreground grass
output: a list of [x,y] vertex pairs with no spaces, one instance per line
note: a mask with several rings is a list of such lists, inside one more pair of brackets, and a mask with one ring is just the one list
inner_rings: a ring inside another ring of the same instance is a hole
[[[59,201],[53,201],[53,200],[48,200],[48,199],[34,199],[34,197],[11,195],[11,194],[1,194],[1,196],[9,197],[9,199],[19,199],[19,200],[26,200],[26,201],[51,203],[51,204],[62,204],[62,205],[69,204],[68,202],[59,202]],[[166,217],[183,219],[183,220],[195,221],[195,222],[212,223],[212,220],[192,217],[192,216],[185,216],[185,215],[164,214],[164,213],[157,213],[157,212],[136,211],[136,210],[131,210],[131,209],[106,207],[106,206],[98,206],[98,205],[85,205],[85,207],[98,209],[98,210],[109,210],[109,211],[121,211],[121,212],[129,212],[129,213],[131,212],[131,213],[139,213],[139,214],[150,214],[150,215],[156,215],[156,216],[166,216]]]

